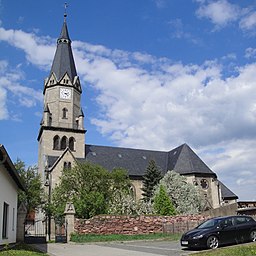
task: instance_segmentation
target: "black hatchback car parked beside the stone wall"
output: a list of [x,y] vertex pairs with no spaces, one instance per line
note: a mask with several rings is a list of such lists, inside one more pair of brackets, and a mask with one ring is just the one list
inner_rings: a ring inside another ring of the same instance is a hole
[[219,245],[256,241],[256,221],[250,216],[209,219],[182,235],[181,246],[216,249]]

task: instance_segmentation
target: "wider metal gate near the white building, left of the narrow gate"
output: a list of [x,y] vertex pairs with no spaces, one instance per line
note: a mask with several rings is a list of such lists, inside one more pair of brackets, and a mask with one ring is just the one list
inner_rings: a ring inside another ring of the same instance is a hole
[[44,220],[25,220],[24,242],[27,244],[46,243],[46,222]]

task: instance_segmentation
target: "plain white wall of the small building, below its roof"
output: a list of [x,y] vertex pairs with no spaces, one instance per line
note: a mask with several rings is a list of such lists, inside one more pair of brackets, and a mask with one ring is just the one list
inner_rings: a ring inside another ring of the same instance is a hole
[[[6,169],[0,165],[0,245],[16,242],[17,201],[17,186]],[[4,203],[9,205],[7,239],[2,238]]]

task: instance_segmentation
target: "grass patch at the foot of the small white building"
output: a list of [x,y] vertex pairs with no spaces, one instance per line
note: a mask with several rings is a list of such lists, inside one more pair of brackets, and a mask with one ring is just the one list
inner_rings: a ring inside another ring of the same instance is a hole
[[0,251],[0,256],[46,256],[48,254],[39,252],[38,250],[26,244],[18,244],[14,247],[6,246]]

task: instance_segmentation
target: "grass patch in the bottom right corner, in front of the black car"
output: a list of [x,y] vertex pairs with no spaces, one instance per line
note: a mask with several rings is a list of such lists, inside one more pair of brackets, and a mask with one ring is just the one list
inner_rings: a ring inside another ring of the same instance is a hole
[[215,250],[194,253],[193,256],[252,256],[256,255],[256,244],[227,246]]

